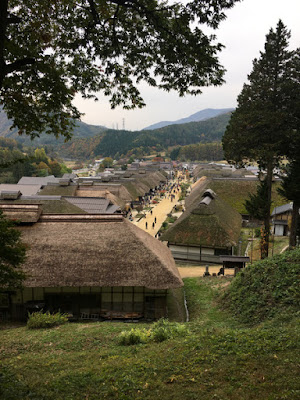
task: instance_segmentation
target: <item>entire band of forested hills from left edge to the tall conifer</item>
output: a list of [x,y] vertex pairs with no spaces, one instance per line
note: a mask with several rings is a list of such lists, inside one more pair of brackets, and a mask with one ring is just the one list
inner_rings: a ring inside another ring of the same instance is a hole
[[20,137],[16,129],[9,129],[10,121],[0,112],[0,137],[15,139],[27,146],[51,146],[59,156],[71,159],[118,157],[128,153],[140,157],[174,146],[220,142],[230,115],[227,113],[205,121],[143,131],[112,130],[79,121],[72,140],[64,143],[63,138],[56,139],[51,135],[41,135],[33,141],[26,136]]

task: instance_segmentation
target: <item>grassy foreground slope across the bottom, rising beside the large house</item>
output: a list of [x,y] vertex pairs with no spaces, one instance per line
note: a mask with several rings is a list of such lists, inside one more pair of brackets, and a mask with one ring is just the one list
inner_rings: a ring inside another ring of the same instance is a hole
[[295,321],[239,324],[215,305],[224,283],[185,280],[191,334],[159,344],[119,346],[132,325],[110,322],[0,331],[0,398],[296,400]]

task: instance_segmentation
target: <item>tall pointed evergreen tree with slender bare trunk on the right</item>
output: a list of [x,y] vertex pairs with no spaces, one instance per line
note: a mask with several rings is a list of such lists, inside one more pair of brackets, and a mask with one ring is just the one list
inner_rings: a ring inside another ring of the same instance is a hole
[[262,258],[268,256],[273,169],[288,154],[289,143],[298,129],[294,101],[299,85],[299,72],[295,69],[299,49],[290,51],[289,39],[290,32],[282,21],[276,30],[270,30],[264,52],[253,61],[249,83],[244,84],[238,96],[238,107],[223,137],[228,161],[239,165],[255,161],[267,172]]

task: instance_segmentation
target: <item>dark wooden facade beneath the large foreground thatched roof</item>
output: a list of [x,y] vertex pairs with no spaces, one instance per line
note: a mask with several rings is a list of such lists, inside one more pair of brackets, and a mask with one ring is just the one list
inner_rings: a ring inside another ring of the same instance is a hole
[[3,300],[2,318],[25,320],[28,312],[63,312],[72,320],[146,319],[167,316],[166,289],[145,287],[25,288]]

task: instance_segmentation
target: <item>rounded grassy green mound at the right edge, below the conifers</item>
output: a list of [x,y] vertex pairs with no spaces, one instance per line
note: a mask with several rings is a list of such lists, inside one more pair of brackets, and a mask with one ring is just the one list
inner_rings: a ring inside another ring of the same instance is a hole
[[300,249],[266,258],[237,275],[223,296],[239,320],[259,323],[300,310]]

